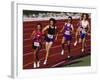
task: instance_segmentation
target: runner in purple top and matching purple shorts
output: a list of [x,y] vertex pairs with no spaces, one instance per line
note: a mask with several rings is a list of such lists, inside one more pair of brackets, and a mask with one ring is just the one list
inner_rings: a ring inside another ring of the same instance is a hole
[[67,42],[67,48],[68,48],[68,56],[67,58],[70,58],[70,44],[71,44],[71,39],[72,39],[72,33],[74,31],[73,25],[72,25],[72,17],[68,16],[68,22],[65,22],[65,25],[63,26],[62,32],[64,30],[64,35],[62,38],[62,52],[61,55],[64,54],[64,45],[65,42]]

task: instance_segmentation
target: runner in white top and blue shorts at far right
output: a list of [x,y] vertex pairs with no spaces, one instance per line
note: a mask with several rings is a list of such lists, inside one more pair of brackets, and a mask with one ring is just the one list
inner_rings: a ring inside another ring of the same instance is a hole
[[[80,26],[78,28],[79,28],[79,33],[80,33],[79,43],[82,42],[81,51],[84,52],[86,35],[89,35],[89,31],[90,31],[88,14],[85,14],[85,13],[82,14],[82,20],[80,21]],[[77,44],[77,41],[75,42],[74,45],[76,46],[76,44]]]

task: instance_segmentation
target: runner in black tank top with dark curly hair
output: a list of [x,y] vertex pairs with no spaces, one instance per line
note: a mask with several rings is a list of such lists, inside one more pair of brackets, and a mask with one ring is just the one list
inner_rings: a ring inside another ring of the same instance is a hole
[[47,59],[48,59],[48,55],[50,52],[50,49],[54,43],[54,40],[57,40],[57,27],[55,26],[56,24],[56,20],[54,18],[50,18],[49,19],[49,25],[47,25],[46,27],[44,27],[44,29],[42,30],[42,32],[44,33],[45,31],[47,31],[46,37],[45,37],[45,41],[46,41],[46,56],[45,56],[45,60],[44,60],[44,65],[47,63]]

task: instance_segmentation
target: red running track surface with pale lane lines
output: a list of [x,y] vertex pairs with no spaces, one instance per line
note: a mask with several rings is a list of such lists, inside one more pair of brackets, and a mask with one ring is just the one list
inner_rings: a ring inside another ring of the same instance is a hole
[[[41,23],[43,26],[46,26],[48,24],[48,21],[34,21],[34,22],[23,22],[23,69],[32,69],[33,68],[33,54],[32,54],[32,41],[30,39],[30,35],[32,31],[34,30],[34,27],[36,27],[37,23]],[[78,20],[73,20],[73,25],[76,30]],[[63,27],[64,20],[58,20],[56,26],[58,27],[58,31]],[[61,39],[62,39],[62,33],[59,33],[58,40],[54,42],[50,54],[48,57],[47,65],[43,65],[44,56],[45,56],[45,42],[42,44],[42,49],[39,53],[40,58],[40,67],[41,68],[48,68],[48,67],[56,67],[59,66],[66,60],[66,62],[69,62],[69,60],[66,59],[67,56],[67,48],[65,46],[65,54],[62,56],[61,53]],[[76,47],[73,46],[73,43],[75,41],[75,34],[73,34],[73,39],[71,43],[71,55],[73,56],[73,59],[79,58],[81,55],[81,44],[78,44]],[[87,36],[86,40],[86,49],[84,56],[90,55],[91,51],[91,40],[90,36]]]

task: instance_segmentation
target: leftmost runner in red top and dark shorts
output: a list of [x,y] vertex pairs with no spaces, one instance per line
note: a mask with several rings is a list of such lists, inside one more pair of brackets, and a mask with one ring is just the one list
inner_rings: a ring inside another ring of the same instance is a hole
[[37,24],[36,30],[34,30],[31,34],[32,39],[32,49],[34,55],[34,68],[40,66],[40,61],[38,57],[38,53],[41,49],[41,40],[42,40],[42,26],[40,23]]

